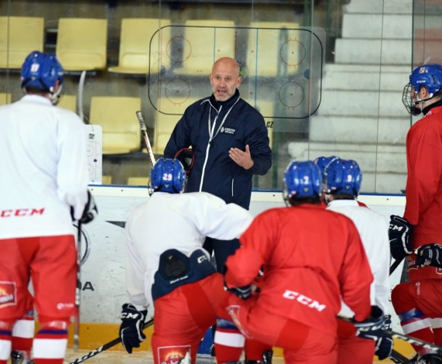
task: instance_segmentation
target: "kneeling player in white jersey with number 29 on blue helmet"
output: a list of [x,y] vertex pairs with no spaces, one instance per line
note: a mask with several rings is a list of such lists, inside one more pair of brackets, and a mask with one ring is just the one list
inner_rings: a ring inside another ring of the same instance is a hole
[[244,208],[207,192],[182,193],[185,183],[180,161],[159,159],[151,170],[151,197],[126,223],[130,303],[123,305],[119,334],[131,353],[144,341],[143,321],[155,308],[155,364],[171,356],[179,361],[187,352],[195,363],[204,333],[215,324],[217,307],[229,296],[202,248],[204,239],[237,238],[252,220]]

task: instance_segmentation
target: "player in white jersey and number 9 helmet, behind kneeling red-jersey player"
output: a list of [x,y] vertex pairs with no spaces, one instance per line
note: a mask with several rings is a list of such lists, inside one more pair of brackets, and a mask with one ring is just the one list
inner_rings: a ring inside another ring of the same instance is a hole
[[[372,305],[387,313],[390,295],[387,223],[381,215],[356,201],[362,182],[361,169],[356,161],[343,161],[335,156],[325,165],[323,177],[327,210],[347,216],[358,229],[374,276],[370,287]],[[345,303],[339,314],[353,316]],[[391,323],[390,315],[386,317],[386,322]],[[385,328],[391,330],[391,327]],[[390,356],[392,346],[390,336],[378,338],[376,343],[365,340],[356,336],[352,323],[338,320],[338,364],[372,364],[374,354],[383,360]]]

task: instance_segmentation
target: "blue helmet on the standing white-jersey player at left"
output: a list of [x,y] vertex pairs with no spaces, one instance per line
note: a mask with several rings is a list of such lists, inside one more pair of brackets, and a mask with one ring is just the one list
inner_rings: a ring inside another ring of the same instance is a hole
[[63,83],[64,69],[53,53],[30,52],[21,66],[21,88],[37,88],[54,94],[57,81]]

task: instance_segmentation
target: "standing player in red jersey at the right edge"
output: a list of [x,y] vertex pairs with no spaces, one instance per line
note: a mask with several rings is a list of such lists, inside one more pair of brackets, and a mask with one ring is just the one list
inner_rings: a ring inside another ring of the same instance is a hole
[[[392,292],[392,303],[405,334],[442,345],[442,272],[416,264],[414,250],[442,243],[442,66],[412,70],[403,92],[410,114],[423,118],[408,131],[406,203],[403,217],[391,216],[390,249],[394,259],[408,256],[409,282]],[[413,345],[424,363],[442,356]]]

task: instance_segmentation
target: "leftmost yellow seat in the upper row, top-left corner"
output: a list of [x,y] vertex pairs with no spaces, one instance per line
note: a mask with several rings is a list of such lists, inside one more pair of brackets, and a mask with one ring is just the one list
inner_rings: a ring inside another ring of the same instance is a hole
[[0,17],[0,68],[20,69],[32,50],[43,52],[42,17]]

